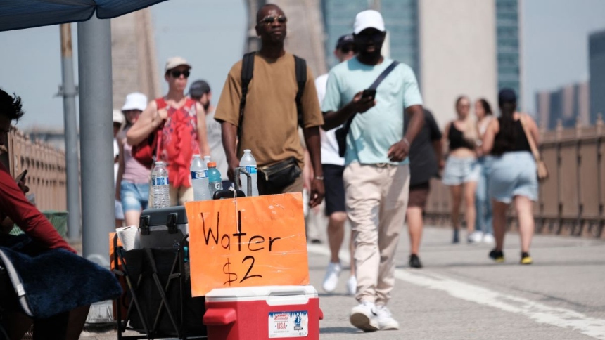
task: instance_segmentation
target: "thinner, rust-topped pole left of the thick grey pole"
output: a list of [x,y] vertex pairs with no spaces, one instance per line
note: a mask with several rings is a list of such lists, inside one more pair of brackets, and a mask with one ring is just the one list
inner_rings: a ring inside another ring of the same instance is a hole
[[75,97],[77,89],[74,84],[74,66],[72,50],[71,24],[61,24],[61,66],[63,71],[63,86],[60,94],[63,96],[63,126],[65,129],[65,168],[67,170],[68,189],[68,238],[71,241],[79,239],[79,164],[77,144],[77,117]]

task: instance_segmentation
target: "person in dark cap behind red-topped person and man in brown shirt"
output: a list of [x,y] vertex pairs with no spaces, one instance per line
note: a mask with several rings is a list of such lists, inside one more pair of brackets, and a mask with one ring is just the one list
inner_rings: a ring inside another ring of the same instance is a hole
[[221,124],[215,119],[215,105],[212,105],[212,91],[210,84],[205,80],[196,80],[189,86],[189,96],[196,100],[206,112],[206,135],[210,159],[216,162],[217,170],[221,173],[222,187],[228,189],[233,185],[227,177],[227,157],[225,156],[221,137]]

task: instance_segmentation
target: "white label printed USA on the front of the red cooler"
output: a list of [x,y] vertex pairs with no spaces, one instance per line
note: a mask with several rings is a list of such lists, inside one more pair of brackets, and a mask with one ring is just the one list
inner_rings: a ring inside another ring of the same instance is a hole
[[269,312],[269,338],[300,338],[309,335],[307,310]]

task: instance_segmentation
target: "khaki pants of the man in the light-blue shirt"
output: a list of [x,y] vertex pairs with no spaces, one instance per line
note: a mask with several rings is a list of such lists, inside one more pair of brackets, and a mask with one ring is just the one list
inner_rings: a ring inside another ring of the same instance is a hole
[[352,163],[345,168],[343,180],[355,240],[355,299],[386,305],[395,285],[395,251],[405,223],[409,166]]

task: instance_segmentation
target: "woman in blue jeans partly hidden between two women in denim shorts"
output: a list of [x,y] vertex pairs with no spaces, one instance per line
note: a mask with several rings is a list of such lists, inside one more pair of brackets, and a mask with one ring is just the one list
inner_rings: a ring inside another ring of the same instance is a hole
[[[485,136],[490,122],[494,118],[492,107],[488,100],[480,98],[475,102],[475,116],[477,117],[477,128],[480,140]],[[480,148],[478,149],[481,150]],[[477,182],[477,192],[475,194],[475,207],[477,218],[475,223],[477,239],[482,237],[485,243],[494,243],[494,232],[492,228],[492,200],[488,193],[488,178],[492,167],[492,156],[483,155],[477,159],[480,168],[479,180]]]

